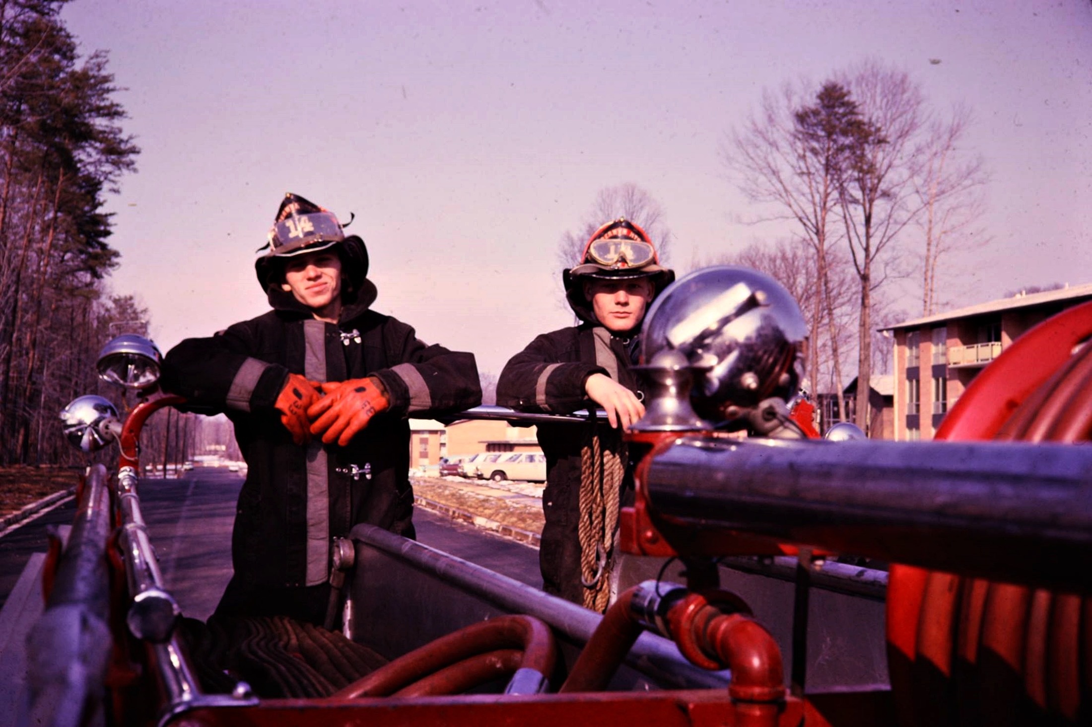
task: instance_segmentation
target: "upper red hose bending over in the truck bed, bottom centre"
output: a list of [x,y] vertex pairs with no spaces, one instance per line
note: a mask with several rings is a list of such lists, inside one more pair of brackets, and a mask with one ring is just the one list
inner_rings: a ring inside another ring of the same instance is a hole
[[463,659],[513,647],[523,650],[523,667],[549,677],[557,660],[557,646],[549,626],[530,615],[501,615],[441,636],[334,692],[329,699],[388,696]]

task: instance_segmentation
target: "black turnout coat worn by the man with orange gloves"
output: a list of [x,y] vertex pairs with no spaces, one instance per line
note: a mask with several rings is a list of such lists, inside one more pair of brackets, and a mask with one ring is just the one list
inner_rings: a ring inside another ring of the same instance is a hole
[[[348,290],[359,292],[337,325],[316,320],[274,283],[273,310],[182,341],[164,361],[164,388],[190,408],[226,413],[249,468],[232,539],[236,610],[247,610],[239,594],[268,602],[274,593],[325,583],[331,539],[358,523],[413,538],[406,418],[480,403],[472,353],[423,343],[412,327],[370,309],[370,281],[354,282]],[[273,407],[289,373],[317,382],[375,376],[391,406],[346,447],[317,438],[297,446]]]

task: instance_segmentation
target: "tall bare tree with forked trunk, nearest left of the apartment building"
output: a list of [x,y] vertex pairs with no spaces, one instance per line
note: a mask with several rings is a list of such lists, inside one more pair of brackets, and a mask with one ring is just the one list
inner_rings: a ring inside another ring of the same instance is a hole
[[[888,278],[894,242],[921,209],[915,151],[926,119],[921,89],[905,71],[868,60],[843,73],[841,83],[851,90],[865,121],[856,130],[839,202],[859,282],[857,390],[867,391],[873,293]],[[868,425],[867,396],[856,398],[856,421],[862,427]]]

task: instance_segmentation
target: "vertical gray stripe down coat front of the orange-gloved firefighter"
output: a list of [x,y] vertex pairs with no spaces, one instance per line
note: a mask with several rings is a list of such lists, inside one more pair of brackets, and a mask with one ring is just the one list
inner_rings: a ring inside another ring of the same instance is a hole
[[[327,325],[304,321],[304,376],[327,380]],[[307,445],[307,585],[325,583],[330,567],[330,470],[322,442]]]

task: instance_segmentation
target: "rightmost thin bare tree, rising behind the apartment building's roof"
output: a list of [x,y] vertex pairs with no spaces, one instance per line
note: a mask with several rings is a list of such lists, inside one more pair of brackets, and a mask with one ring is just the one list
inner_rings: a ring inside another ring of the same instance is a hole
[[937,275],[942,256],[968,251],[988,243],[980,226],[985,213],[988,175],[982,156],[961,146],[971,124],[971,112],[956,106],[948,119],[934,118],[919,150],[914,181],[922,213],[918,226],[924,237],[922,256],[922,315],[937,310]]

